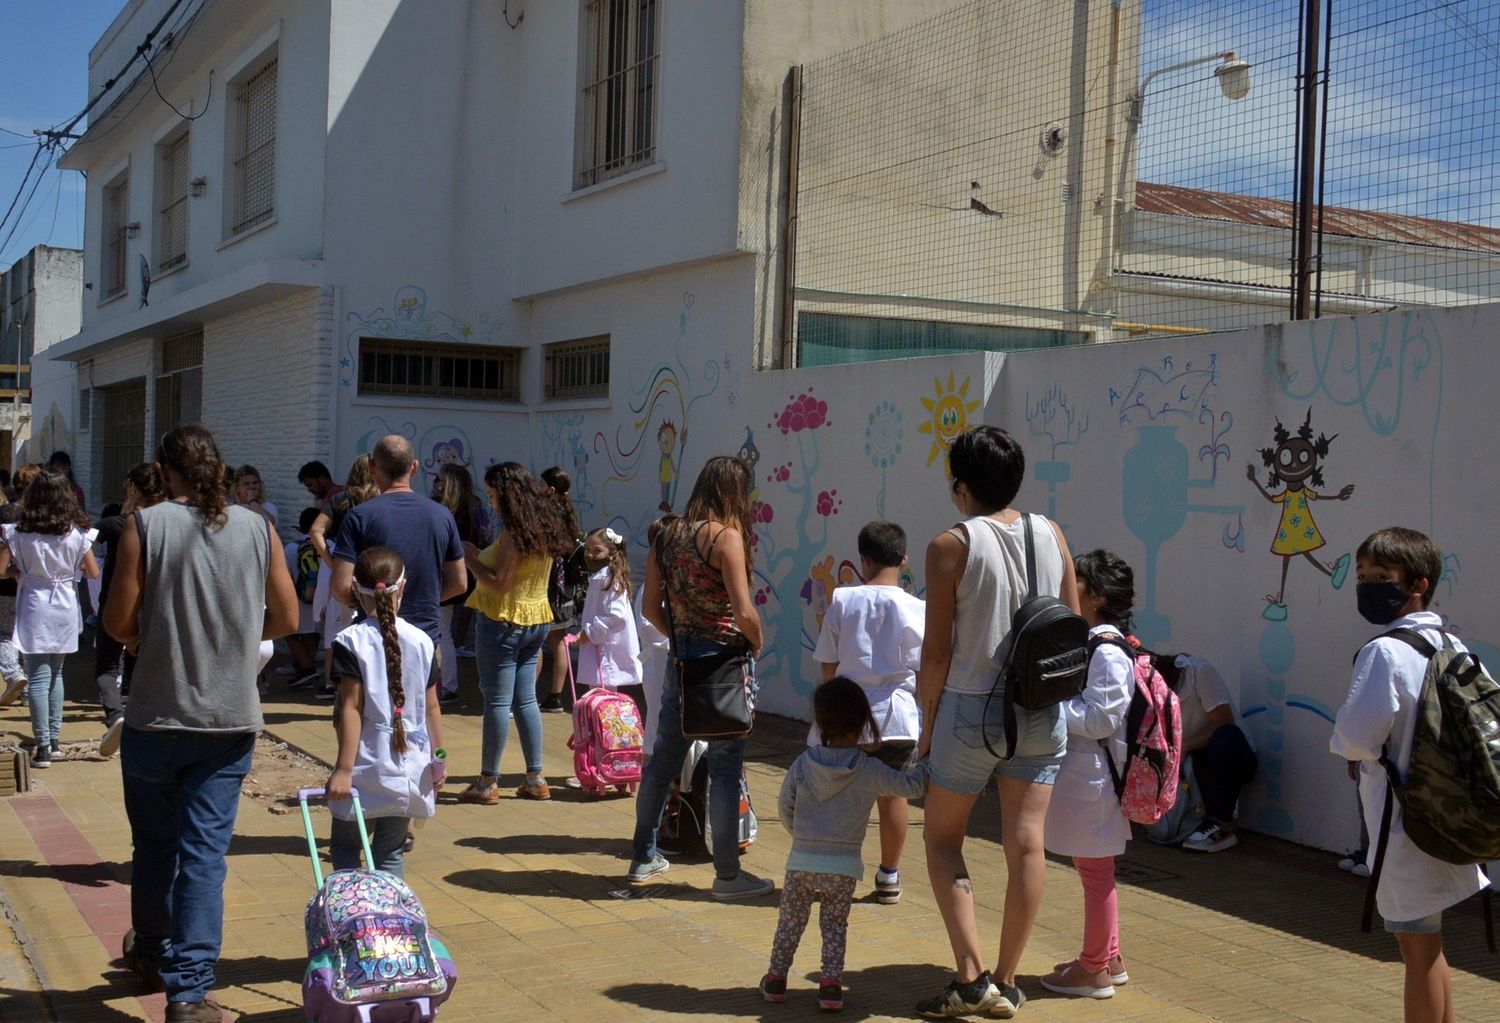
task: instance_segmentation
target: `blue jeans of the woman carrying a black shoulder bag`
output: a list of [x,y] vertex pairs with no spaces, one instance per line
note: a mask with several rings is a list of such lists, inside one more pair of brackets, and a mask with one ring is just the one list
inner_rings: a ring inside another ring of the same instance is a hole
[[[687,658],[710,657],[723,646],[710,642],[680,644]],[[682,735],[682,684],[669,658],[662,686],[662,710],[651,760],[640,776],[636,795],[636,834],[632,858],[648,862],[657,855],[656,836],[672,795],[672,780],[682,772],[688,740]],[[740,777],[746,764],[746,741],[708,740],[708,819],[714,826],[714,873],[729,880],[740,874]]]

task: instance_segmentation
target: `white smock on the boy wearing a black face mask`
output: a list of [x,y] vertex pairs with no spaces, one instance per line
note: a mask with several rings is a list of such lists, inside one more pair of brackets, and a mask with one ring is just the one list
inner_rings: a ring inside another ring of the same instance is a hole
[[[1443,620],[1431,610],[1398,618],[1386,628],[1416,628],[1442,650]],[[1464,645],[1456,642],[1460,650]],[[1400,639],[1377,639],[1359,651],[1348,698],[1334,717],[1329,750],[1346,760],[1359,760],[1359,800],[1370,830],[1370,866],[1376,862],[1380,818],[1386,806],[1386,770],[1380,766],[1382,747],[1389,746],[1396,770],[1406,777],[1412,764],[1412,736],[1416,732],[1418,698],[1426,676],[1426,658]],[[1376,906],[1384,920],[1412,921],[1468,898],[1485,886],[1478,866],[1460,867],[1426,855],[1407,838],[1401,822],[1401,801],[1392,800],[1390,840],[1386,846]]]

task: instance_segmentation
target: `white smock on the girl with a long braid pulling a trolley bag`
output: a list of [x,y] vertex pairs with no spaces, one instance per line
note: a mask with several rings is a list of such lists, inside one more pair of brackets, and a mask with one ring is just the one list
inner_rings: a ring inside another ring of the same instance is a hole
[[[334,646],[348,650],[358,663],[364,687],[364,714],[360,722],[360,748],[354,754],[354,788],[366,818],[430,818],[435,812],[432,790],[432,742],[428,738],[428,676],[432,674],[432,639],[423,630],[396,620],[400,642],[400,678],[406,704],[402,724],[406,753],[399,759],[390,748],[394,720],[390,684],[386,675],[386,644],[375,618],[350,626],[334,636]],[[339,660],[339,651],[334,650]],[[342,675],[342,672],[334,672]],[[336,800],[328,810],[340,820],[354,818],[348,800]]]

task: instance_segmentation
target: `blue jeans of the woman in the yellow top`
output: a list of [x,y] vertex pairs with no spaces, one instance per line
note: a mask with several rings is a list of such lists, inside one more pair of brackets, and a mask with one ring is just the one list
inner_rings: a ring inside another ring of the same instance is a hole
[[537,708],[537,662],[552,626],[516,626],[480,615],[474,622],[474,666],[484,696],[480,774],[498,778],[500,758],[510,736],[510,718],[520,732],[526,772],[542,772],[542,711]]

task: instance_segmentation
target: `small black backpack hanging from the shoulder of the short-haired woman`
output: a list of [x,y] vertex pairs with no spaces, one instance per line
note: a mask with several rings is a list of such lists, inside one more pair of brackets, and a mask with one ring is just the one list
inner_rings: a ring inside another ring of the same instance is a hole
[[[1038,711],[1072,699],[1089,678],[1089,622],[1056,597],[1036,596],[1036,543],[1034,516],[1026,522],[1026,600],[1011,615],[1010,650],[994,687],[1005,687],[1005,756],[1016,756],[1016,708]],[[990,690],[994,699],[994,688]],[[990,700],[984,702],[986,723]],[[990,746],[987,724],[981,726],[984,748]]]

